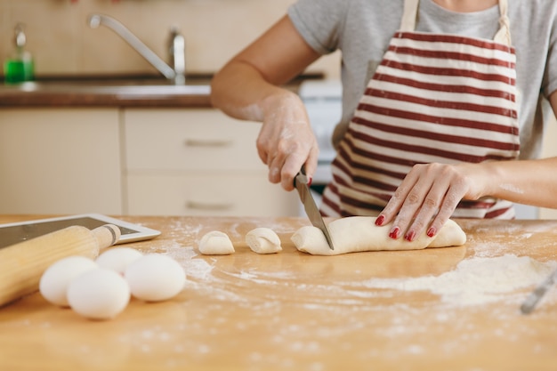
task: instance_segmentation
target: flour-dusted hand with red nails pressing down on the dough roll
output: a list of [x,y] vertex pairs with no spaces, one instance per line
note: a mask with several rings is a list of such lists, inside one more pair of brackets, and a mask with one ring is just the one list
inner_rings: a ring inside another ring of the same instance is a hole
[[[477,173],[473,173],[475,170]],[[453,214],[461,199],[480,198],[482,178],[474,164],[415,165],[400,183],[376,220],[384,225],[394,220],[391,238],[412,241],[424,231],[433,237]],[[472,174],[478,175],[472,181]]]

